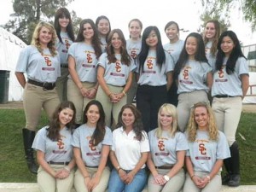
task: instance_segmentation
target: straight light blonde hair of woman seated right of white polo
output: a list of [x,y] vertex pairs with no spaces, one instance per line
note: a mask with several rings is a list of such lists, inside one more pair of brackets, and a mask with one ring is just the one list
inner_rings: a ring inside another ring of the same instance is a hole
[[171,130],[169,131],[170,137],[174,137],[175,133],[178,131],[177,128],[177,110],[176,107],[172,104],[165,103],[163,104],[158,111],[158,127],[155,131],[156,137],[160,138],[162,136],[162,125],[160,124],[160,113],[166,112],[172,115],[172,125]]

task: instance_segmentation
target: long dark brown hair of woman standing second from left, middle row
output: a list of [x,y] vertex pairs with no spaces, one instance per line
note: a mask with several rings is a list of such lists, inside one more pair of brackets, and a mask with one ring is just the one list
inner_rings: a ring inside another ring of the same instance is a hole
[[84,32],[84,24],[86,24],[86,23],[89,23],[91,28],[93,29],[94,35],[91,40],[91,45],[92,45],[93,49],[95,50],[96,58],[98,59],[100,57],[100,55],[102,55],[102,48],[101,48],[101,42],[99,39],[98,30],[97,30],[96,25],[93,20],[90,20],[90,19],[81,20],[80,25],[79,25],[79,33],[78,33],[76,42],[84,41],[83,32]]

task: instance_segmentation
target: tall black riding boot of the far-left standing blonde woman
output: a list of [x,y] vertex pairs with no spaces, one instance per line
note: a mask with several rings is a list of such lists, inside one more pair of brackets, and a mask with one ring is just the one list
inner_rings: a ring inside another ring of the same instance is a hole
[[35,138],[35,131],[30,131],[26,128],[22,129],[23,134],[23,144],[26,154],[26,164],[30,172],[37,174],[38,173],[38,165],[35,162],[33,156],[33,148],[32,143]]

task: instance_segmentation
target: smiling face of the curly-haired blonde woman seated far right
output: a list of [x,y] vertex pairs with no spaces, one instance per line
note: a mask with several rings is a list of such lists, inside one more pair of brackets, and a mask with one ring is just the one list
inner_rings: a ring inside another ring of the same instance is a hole
[[209,114],[207,112],[207,108],[205,107],[195,108],[194,115],[195,115],[195,122],[198,126],[198,129],[207,130],[208,121],[209,121]]

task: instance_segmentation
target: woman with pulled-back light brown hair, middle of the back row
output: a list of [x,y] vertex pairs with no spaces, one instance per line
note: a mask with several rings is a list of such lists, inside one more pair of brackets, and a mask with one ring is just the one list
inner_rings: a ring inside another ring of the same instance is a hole
[[[141,20],[133,19],[128,24],[130,38],[126,40],[126,49],[128,54],[131,56],[135,66],[137,66],[137,55],[142,49],[142,38],[141,33],[143,30],[143,23]],[[127,103],[131,104],[134,97],[136,96],[137,90],[137,79],[135,73],[133,73],[131,88],[127,92]]]

